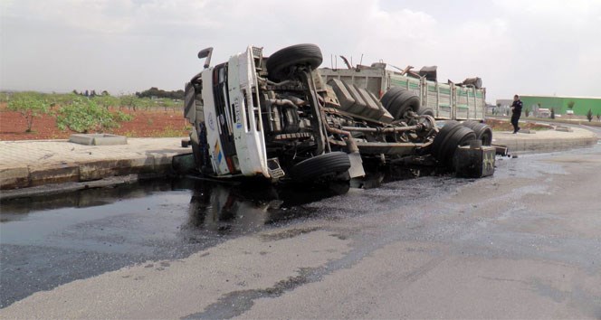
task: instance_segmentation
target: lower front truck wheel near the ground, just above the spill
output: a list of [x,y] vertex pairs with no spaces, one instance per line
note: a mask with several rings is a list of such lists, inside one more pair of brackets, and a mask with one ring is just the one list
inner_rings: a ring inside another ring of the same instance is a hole
[[348,171],[350,160],[344,152],[330,152],[300,161],[292,166],[291,177],[296,182],[308,182],[324,174],[340,174]]

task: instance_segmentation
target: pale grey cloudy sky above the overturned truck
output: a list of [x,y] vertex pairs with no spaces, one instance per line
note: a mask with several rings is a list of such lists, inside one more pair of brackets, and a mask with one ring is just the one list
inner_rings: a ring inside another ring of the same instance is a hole
[[601,0],[0,0],[0,24],[0,89],[183,89],[202,48],[220,62],[312,42],[322,66],[363,55],[479,76],[491,102],[601,97]]

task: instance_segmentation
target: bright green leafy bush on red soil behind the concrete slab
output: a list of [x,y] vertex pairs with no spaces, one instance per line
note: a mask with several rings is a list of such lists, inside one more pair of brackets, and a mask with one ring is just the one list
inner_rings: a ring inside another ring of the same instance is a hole
[[72,104],[59,109],[56,125],[61,130],[70,129],[75,132],[103,132],[112,127],[119,127],[119,121],[128,121],[131,116],[119,112],[111,114],[101,108],[94,99],[74,99]]

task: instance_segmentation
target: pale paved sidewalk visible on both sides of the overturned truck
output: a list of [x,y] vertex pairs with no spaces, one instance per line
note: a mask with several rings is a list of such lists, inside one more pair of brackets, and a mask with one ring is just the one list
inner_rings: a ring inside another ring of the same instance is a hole
[[[536,135],[494,132],[493,144],[512,154],[542,153],[594,146],[598,137],[582,128]],[[81,146],[67,140],[0,141],[0,199],[6,190],[46,184],[85,183],[111,176],[167,174],[175,155],[191,153],[181,137],[130,138],[124,146]],[[86,184],[82,184],[86,185]]]

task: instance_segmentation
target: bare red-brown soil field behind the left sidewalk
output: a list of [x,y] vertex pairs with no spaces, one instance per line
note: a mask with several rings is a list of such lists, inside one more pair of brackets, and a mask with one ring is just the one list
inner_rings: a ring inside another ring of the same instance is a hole
[[[134,118],[122,122],[121,127],[105,133],[129,137],[162,137],[187,136],[189,124],[180,109],[151,109],[129,111]],[[40,140],[67,139],[74,132],[62,131],[56,127],[56,120],[51,115],[33,119],[33,132],[25,132],[25,118],[18,112],[9,111],[5,106],[0,107],[0,141],[10,140]]]

